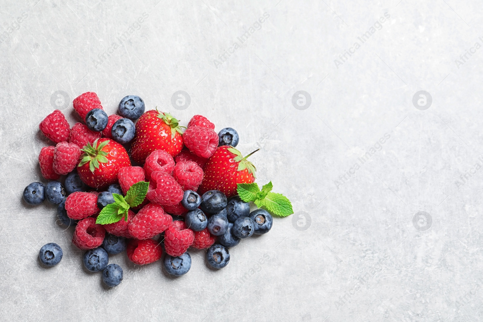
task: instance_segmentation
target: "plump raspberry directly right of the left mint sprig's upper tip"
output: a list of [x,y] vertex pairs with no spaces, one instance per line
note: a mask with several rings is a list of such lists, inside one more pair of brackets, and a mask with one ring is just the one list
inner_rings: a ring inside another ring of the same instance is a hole
[[181,186],[166,172],[154,171],[147,193],[149,201],[161,206],[173,206],[183,199]]

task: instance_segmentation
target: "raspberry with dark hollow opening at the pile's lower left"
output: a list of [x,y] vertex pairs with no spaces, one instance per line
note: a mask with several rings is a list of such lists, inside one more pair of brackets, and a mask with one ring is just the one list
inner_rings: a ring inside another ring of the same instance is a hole
[[96,224],[96,218],[85,218],[75,226],[72,243],[80,249],[93,249],[102,244],[105,235],[104,227]]

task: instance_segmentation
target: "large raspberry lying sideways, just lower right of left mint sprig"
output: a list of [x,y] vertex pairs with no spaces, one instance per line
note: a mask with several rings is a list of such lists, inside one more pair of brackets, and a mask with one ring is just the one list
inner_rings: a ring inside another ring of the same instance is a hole
[[149,203],[132,218],[128,225],[129,235],[137,239],[148,239],[162,233],[173,219],[159,205]]

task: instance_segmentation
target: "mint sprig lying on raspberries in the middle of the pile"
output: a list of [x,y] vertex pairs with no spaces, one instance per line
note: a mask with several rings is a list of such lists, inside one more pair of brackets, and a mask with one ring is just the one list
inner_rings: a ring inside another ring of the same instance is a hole
[[129,208],[139,206],[146,197],[148,192],[149,182],[140,181],[134,183],[123,197],[118,194],[113,194],[114,203],[102,208],[99,216],[96,219],[96,224],[113,224],[121,219],[128,221]]

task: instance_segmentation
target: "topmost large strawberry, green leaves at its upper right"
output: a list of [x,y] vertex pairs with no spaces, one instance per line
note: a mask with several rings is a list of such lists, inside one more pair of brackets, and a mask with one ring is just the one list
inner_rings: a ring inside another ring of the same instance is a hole
[[136,136],[132,141],[131,157],[143,164],[155,150],[164,150],[176,156],[183,149],[183,132],[179,121],[170,113],[150,110],[144,112],[136,122]]

